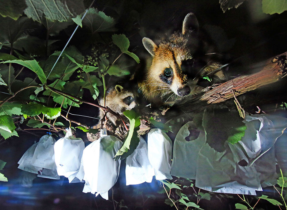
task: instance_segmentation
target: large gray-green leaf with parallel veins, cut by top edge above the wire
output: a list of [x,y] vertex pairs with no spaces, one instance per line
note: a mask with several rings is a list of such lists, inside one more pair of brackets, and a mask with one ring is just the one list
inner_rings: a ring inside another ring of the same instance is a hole
[[26,4],[24,13],[38,22],[44,17],[52,21],[67,21],[85,11],[83,0],[29,0]]

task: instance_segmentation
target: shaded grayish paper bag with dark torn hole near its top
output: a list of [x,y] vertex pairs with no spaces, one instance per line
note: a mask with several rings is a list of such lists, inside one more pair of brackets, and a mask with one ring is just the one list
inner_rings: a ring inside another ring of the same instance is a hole
[[[194,138],[198,135],[191,141],[186,139],[190,135],[190,131],[194,133]],[[170,174],[195,179],[197,156],[203,144],[205,144],[204,131],[197,130],[192,121],[183,125],[174,140]]]

